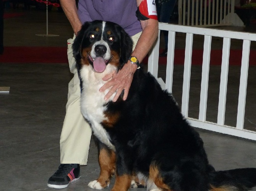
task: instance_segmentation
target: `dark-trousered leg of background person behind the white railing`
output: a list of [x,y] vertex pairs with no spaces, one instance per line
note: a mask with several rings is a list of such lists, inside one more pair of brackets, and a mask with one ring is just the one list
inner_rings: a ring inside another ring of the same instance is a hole
[[[159,10],[159,22],[164,22],[164,23],[169,23],[170,22],[170,17],[172,15],[173,9],[175,7],[177,0],[167,0],[165,1]],[[159,56],[167,56],[167,51],[168,51],[168,31],[163,30],[164,33],[164,43],[165,43],[165,50],[159,54]]]

